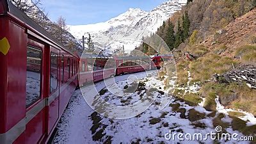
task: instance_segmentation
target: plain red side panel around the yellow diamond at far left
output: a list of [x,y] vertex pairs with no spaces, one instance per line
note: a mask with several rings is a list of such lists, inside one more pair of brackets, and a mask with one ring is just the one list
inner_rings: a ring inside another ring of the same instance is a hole
[[17,136],[8,134],[12,132],[10,129],[13,125],[17,132],[24,131],[22,123],[25,122],[26,113],[26,77],[23,76],[26,76],[27,35],[22,26],[5,15],[0,16],[0,21],[0,40],[5,39],[10,44],[10,49],[1,45],[2,51],[5,49],[6,53],[0,52],[0,134],[5,133],[8,141]]

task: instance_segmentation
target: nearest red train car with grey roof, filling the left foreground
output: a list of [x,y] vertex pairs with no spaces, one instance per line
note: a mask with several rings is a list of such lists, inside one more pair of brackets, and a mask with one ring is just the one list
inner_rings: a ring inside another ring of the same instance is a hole
[[0,143],[46,143],[77,86],[79,58],[0,1]]

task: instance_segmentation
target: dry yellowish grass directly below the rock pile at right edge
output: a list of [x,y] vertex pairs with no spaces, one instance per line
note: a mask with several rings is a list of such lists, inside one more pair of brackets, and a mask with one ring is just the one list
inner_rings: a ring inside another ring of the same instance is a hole
[[256,90],[249,88],[246,84],[206,83],[200,93],[206,98],[204,107],[207,110],[216,110],[214,99],[218,95],[221,104],[234,109],[243,109],[256,115]]

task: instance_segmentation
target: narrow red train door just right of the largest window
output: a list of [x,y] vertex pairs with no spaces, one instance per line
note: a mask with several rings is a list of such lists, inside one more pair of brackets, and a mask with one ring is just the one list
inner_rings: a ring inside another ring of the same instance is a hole
[[60,106],[60,50],[50,48],[50,70],[49,70],[49,113],[48,113],[48,134],[53,130],[59,118]]

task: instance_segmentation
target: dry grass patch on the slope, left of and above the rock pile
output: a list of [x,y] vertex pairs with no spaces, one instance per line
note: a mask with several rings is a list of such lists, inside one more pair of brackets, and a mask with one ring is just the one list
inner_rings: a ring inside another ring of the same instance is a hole
[[223,74],[232,69],[237,62],[228,57],[221,57],[218,54],[206,54],[189,64],[189,70],[194,81],[206,81],[211,79],[214,73]]

